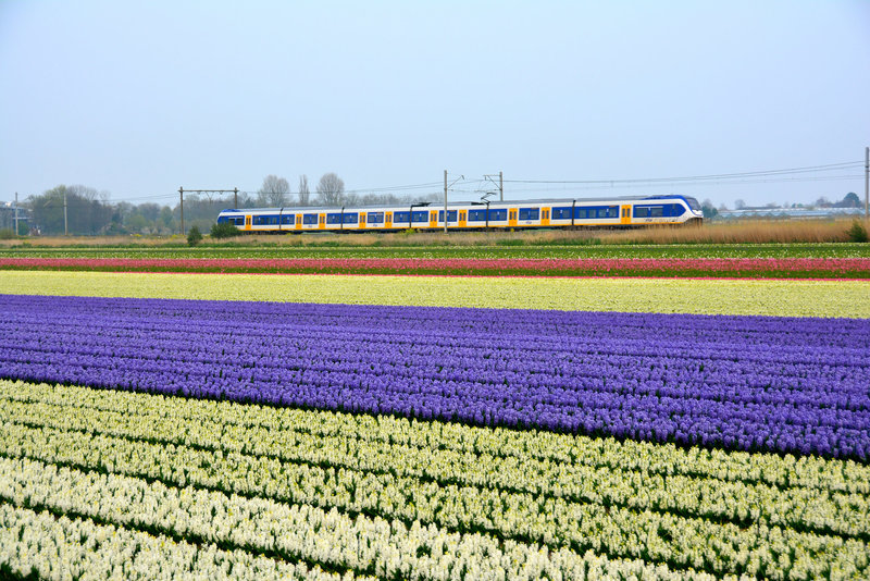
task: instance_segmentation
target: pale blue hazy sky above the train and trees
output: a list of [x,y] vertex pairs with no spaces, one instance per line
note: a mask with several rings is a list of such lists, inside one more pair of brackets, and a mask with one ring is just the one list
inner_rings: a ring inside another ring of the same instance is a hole
[[456,200],[499,171],[507,199],[863,199],[868,145],[867,0],[0,0],[0,200],[444,170]]

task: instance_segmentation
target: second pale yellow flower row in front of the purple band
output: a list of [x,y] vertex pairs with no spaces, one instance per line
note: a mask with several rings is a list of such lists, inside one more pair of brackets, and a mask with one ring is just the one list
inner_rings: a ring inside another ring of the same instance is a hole
[[[619,465],[572,465],[522,456],[457,453],[431,446],[372,443],[345,435],[316,436],[287,430],[239,428],[201,419],[84,411],[69,405],[9,400],[0,410],[0,419],[39,428],[389,473],[442,486],[477,486],[742,526],[762,523],[870,539],[867,495],[822,487],[781,489],[748,479],[722,481],[709,477],[664,475]],[[725,468],[732,469],[728,463]]]

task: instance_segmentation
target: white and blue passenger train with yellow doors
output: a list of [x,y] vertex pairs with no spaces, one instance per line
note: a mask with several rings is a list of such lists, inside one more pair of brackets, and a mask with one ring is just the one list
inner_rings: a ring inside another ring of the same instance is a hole
[[[689,196],[471,201],[447,205],[449,231],[497,228],[617,228],[700,224],[698,200]],[[227,209],[217,223],[245,233],[390,232],[444,230],[444,205]]]

